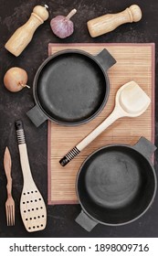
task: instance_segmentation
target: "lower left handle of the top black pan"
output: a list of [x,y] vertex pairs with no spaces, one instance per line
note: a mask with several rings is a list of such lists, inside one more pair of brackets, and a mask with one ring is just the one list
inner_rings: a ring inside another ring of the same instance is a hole
[[26,115],[37,127],[47,120],[47,116],[39,109],[37,105],[26,112]]

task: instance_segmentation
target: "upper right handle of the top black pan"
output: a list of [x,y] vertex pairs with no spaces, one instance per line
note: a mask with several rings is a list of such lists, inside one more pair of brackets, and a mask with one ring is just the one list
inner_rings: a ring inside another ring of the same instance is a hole
[[100,66],[107,71],[116,63],[116,59],[111,56],[111,53],[104,48],[100,53],[94,57],[100,63]]

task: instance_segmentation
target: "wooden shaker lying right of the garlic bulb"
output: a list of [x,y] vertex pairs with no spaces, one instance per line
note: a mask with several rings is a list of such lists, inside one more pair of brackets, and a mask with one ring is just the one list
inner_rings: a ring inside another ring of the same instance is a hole
[[98,37],[111,32],[124,23],[137,22],[142,18],[142,11],[138,5],[131,5],[118,14],[99,16],[88,21],[87,26],[91,37]]

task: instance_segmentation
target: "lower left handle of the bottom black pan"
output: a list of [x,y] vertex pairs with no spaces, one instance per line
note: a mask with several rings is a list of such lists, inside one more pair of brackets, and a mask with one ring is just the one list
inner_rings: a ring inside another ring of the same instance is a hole
[[91,219],[83,210],[81,210],[75,221],[89,232],[98,224],[96,220]]

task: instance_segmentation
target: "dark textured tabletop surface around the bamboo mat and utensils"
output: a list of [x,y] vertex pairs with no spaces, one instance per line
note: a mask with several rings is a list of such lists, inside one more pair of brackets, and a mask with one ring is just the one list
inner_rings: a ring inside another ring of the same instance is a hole
[[[17,27],[23,25],[30,16],[35,5],[49,6],[49,19],[37,28],[31,43],[18,57],[5,50],[5,42]],[[126,24],[115,31],[101,37],[92,38],[86,22],[106,13],[117,13],[126,7],[137,4],[142,8],[142,20],[138,23]],[[66,39],[55,37],[49,27],[52,17],[68,15],[76,8],[78,13],[73,17],[75,32]],[[52,43],[147,43],[156,44],[156,69],[158,68],[158,2],[132,0],[85,0],[85,1],[27,1],[1,0],[0,7],[0,237],[158,237],[158,197],[153,207],[141,219],[121,227],[98,225],[90,233],[79,227],[74,221],[80,211],[79,205],[47,206],[47,228],[36,233],[27,233],[19,212],[19,200],[23,178],[19,163],[14,123],[21,119],[25,125],[26,144],[31,163],[32,174],[37,187],[47,202],[47,122],[36,128],[29,121],[26,112],[34,106],[32,87],[18,93],[6,91],[3,78],[5,71],[11,67],[21,67],[28,73],[28,84],[32,86],[37,68],[47,58],[47,44]],[[157,75],[157,74],[156,74]],[[157,79],[156,79],[157,87]],[[157,90],[156,90],[157,91]],[[157,92],[155,92],[155,107],[157,109]],[[155,144],[158,141],[157,113],[155,127]],[[5,146],[8,145],[12,155],[13,196],[16,201],[16,226],[7,227],[5,222],[6,178],[3,167]],[[155,169],[158,170],[157,154],[155,154]]]

